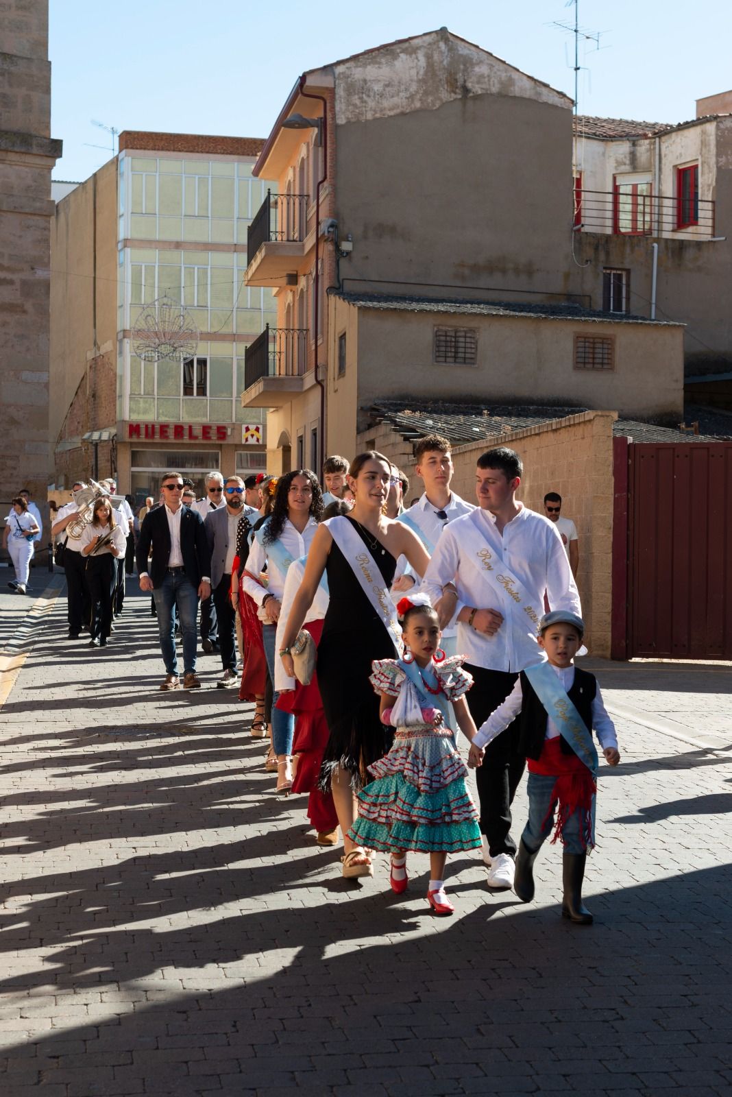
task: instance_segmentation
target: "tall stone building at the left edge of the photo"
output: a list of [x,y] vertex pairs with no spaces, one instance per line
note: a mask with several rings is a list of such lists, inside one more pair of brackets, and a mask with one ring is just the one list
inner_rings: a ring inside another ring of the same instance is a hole
[[50,136],[44,0],[5,0],[0,55],[0,502],[27,487],[45,512],[50,172],[61,142]]

